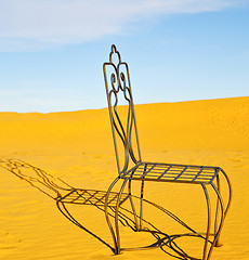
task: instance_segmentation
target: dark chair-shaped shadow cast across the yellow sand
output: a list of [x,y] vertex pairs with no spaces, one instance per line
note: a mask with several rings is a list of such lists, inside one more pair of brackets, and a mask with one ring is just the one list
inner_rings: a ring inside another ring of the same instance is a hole
[[[67,208],[68,205],[94,206],[99,210],[105,212],[104,210],[105,198],[106,198],[105,191],[76,188],[69,185],[68,183],[66,183],[65,181],[63,181],[62,179],[55,178],[49,174],[48,172],[45,172],[44,170],[37,168],[19,159],[0,159],[0,167],[12,172],[16,177],[18,177],[21,180],[25,180],[31,186],[38,188],[44,195],[54,199],[56,202],[56,206],[58,210],[70,222],[73,222],[75,225],[77,225],[78,227],[82,229],[83,231],[92,235],[99,242],[101,242],[106,247],[112,249],[112,251],[115,251],[115,249],[108,243],[106,243],[103,238],[101,238],[100,236],[91,232],[89,229],[83,226],[80,222],[78,222]],[[108,207],[110,209],[109,216],[113,218],[115,218],[114,213],[115,213],[117,198],[118,198],[118,193],[112,192],[109,196]],[[132,196],[132,198],[140,199],[140,197],[136,197],[136,196]],[[119,221],[123,226],[129,226],[133,231],[136,231],[135,222],[132,219],[133,212],[128,208],[126,208],[124,206],[122,206],[124,202],[128,199],[129,199],[129,194],[123,193],[121,198],[120,211],[119,211]],[[179,224],[181,224],[186,230],[188,230],[188,233],[168,235],[161,232],[159,229],[157,229],[152,222],[143,218],[143,222],[149,226],[149,229],[145,229],[143,231],[148,231],[155,237],[156,243],[139,249],[149,249],[156,246],[156,247],[160,247],[161,250],[165,251],[167,255],[176,259],[196,259],[196,258],[189,257],[180,246],[176,245],[174,239],[182,236],[196,236],[204,239],[205,237],[201,234],[194,231],[180,218],[178,218],[175,214],[165,209],[163,207],[146,199],[144,199],[144,203],[157,208],[158,210],[162,211],[163,213],[172,218]],[[168,251],[167,249],[168,250],[170,249],[171,251]],[[133,250],[133,249],[130,248],[127,250]]]

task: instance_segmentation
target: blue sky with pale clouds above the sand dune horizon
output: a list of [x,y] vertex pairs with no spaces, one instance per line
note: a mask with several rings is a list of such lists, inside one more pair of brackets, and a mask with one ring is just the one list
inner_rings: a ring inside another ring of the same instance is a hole
[[249,0],[0,0],[0,112],[107,106],[116,44],[135,104],[249,96]]

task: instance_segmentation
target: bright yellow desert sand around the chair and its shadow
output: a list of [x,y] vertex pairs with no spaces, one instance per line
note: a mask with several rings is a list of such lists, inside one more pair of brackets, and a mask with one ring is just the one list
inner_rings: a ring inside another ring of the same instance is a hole
[[[233,202],[221,235],[223,246],[214,248],[211,259],[249,259],[249,98],[147,104],[135,109],[143,159],[221,166],[227,172]],[[22,159],[83,190],[106,191],[117,176],[106,108],[0,113],[0,159]],[[198,185],[150,183],[145,197],[205,231],[206,202]],[[102,210],[89,205],[71,205],[70,210],[86,229],[113,246]],[[153,206],[145,207],[144,219],[167,234],[182,232]],[[149,234],[120,229],[123,247],[155,242]],[[199,238],[179,239],[189,255],[201,253]],[[0,260],[113,257],[104,243],[66,219],[53,199],[0,168]],[[115,259],[175,258],[158,248],[126,251]]]

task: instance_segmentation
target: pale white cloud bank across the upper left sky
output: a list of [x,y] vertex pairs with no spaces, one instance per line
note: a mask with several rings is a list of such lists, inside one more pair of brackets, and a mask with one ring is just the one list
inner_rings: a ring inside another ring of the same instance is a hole
[[0,0],[0,51],[91,41],[170,13],[218,11],[243,0]]

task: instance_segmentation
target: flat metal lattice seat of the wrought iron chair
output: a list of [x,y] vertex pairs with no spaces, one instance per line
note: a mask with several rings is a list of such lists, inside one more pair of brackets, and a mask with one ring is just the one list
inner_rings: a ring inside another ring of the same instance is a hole
[[220,167],[139,162],[121,176],[121,179],[210,184]]

